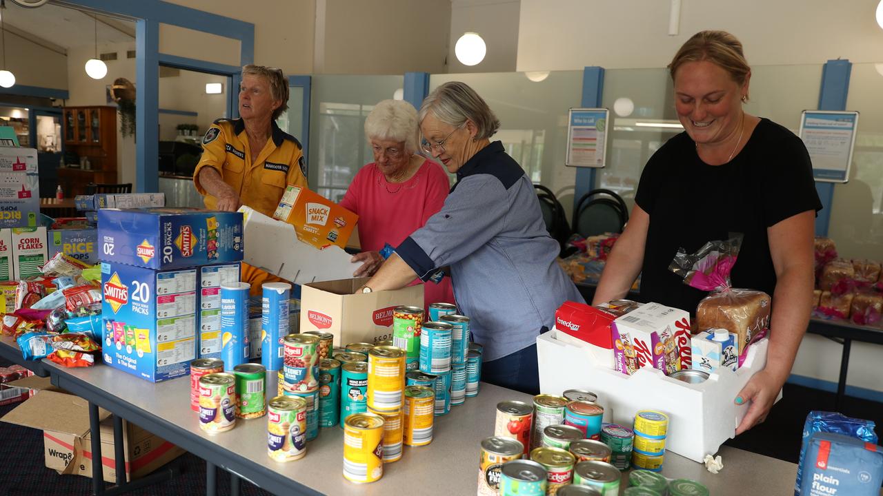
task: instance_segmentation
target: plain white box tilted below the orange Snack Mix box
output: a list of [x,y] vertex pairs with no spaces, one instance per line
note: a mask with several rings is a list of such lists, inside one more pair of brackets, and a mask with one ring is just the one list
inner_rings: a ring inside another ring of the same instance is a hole
[[286,281],[306,284],[352,277],[362,264],[339,246],[316,250],[298,241],[294,226],[276,221],[251,207],[239,207],[243,214],[245,244],[243,260]]

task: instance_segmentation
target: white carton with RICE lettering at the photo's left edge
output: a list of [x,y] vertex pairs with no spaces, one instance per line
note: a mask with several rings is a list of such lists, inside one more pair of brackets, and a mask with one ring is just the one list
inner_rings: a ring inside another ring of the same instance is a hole
[[39,192],[37,150],[0,147],[0,227],[36,226]]

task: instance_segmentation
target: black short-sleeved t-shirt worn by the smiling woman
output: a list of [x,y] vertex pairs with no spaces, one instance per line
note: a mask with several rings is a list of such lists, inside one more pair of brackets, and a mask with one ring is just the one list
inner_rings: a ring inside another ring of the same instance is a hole
[[687,312],[696,312],[707,293],[668,270],[679,247],[692,253],[742,233],[733,287],[772,296],[776,276],[766,228],[822,207],[804,142],[769,119],[760,120],[732,161],[718,166],[702,162],[686,132],[669,139],[647,162],[635,202],[650,214],[641,299]]

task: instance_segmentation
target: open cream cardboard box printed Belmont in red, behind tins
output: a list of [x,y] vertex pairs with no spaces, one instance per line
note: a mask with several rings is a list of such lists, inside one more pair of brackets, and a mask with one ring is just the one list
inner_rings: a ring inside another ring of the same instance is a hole
[[335,346],[350,342],[392,339],[392,311],[396,306],[423,308],[423,285],[392,291],[352,294],[367,278],[313,282],[300,289],[300,332],[334,334]]

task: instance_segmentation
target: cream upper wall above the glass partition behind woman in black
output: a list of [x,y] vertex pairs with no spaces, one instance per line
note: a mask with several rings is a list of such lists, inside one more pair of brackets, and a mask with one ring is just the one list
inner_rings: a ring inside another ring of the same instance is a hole
[[692,34],[735,34],[752,65],[879,62],[878,0],[683,0],[668,35],[665,0],[521,0],[517,71],[664,67]]

